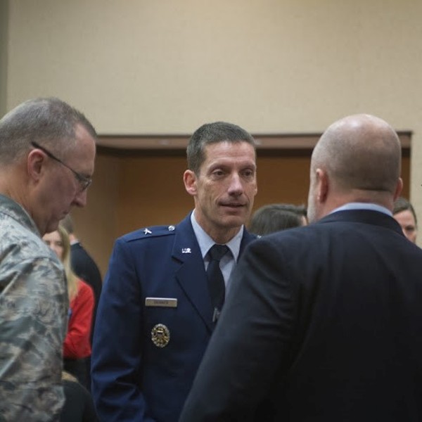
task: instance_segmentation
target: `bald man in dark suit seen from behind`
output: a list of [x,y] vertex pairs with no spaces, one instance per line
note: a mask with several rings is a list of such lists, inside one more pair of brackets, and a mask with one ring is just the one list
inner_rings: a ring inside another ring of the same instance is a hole
[[392,218],[400,156],[371,115],[321,136],[313,224],[245,250],[180,421],[422,420],[422,250]]

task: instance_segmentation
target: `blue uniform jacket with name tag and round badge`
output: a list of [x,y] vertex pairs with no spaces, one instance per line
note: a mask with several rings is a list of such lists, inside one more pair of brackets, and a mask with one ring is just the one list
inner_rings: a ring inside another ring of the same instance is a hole
[[[254,238],[245,231],[241,251]],[[146,306],[146,298],[174,299],[177,306]],[[214,328],[212,313],[190,215],[176,227],[117,239],[92,352],[101,421],[177,421]],[[169,338],[160,347],[154,341],[163,330]]]

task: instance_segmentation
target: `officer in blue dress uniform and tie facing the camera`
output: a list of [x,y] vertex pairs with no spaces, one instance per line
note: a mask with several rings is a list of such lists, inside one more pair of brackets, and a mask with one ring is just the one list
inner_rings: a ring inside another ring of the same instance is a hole
[[[244,228],[257,193],[252,136],[234,124],[204,124],[187,156],[193,212],[176,226],[127,234],[113,249],[92,352],[101,421],[177,421],[231,270],[255,238]],[[210,263],[215,244],[224,255]]]

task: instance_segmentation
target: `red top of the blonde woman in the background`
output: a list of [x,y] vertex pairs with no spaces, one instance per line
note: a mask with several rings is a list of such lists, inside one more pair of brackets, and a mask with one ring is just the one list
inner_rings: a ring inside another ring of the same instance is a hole
[[94,310],[94,292],[91,286],[78,281],[77,295],[70,301],[68,333],[63,343],[63,357],[82,359],[91,355],[92,312]]

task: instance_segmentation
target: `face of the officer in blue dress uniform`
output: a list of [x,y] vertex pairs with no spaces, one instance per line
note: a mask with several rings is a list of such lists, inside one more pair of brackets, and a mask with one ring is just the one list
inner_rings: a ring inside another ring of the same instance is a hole
[[230,238],[247,222],[257,194],[255,149],[244,141],[211,143],[199,174],[186,170],[184,181],[200,226],[212,238],[216,232]]

